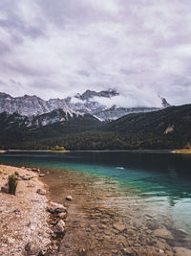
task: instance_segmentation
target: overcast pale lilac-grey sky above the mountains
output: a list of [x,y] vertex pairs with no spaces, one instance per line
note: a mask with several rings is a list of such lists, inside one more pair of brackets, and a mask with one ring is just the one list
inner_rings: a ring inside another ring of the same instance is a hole
[[191,102],[190,0],[1,0],[0,91],[119,105]]

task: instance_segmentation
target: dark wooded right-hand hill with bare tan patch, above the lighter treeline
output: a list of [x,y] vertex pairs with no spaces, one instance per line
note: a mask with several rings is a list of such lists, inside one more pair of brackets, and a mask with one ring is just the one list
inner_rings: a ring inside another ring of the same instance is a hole
[[168,134],[188,132],[191,128],[191,105],[170,106],[159,111],[123,116],[107,124],[107,130],[120,133],[156,132]]

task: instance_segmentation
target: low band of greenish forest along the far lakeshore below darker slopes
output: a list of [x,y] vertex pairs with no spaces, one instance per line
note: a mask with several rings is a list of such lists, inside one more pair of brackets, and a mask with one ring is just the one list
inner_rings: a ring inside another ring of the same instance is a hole
[[52,150],[53,147],[57,145],[71,151],[144,149],[168,150],[182,149],[187,143],[187,136],[177,138],[173,137],[172,134],[159,138],[154,137],[153,134],[145,134],[143,137],[138,137],[138,135],[128,137],[115,132],[81,132],[56,138],[14,143],[8,148],[25,150]]

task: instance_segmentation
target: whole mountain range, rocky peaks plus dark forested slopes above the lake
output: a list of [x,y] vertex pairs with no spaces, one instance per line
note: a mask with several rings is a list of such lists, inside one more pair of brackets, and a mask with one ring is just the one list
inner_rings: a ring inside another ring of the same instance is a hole
[[[101,105],[115,90],[63,100],[0,94],[0,146],[8,149],[181,149],[191,142],[191,105],[125,108]],[[95,98],[96,97],[96,98]],[[76,101],[74,101],[76,100]],[[119,117],[119,118],[118,118]]]

